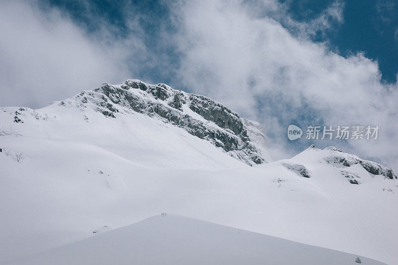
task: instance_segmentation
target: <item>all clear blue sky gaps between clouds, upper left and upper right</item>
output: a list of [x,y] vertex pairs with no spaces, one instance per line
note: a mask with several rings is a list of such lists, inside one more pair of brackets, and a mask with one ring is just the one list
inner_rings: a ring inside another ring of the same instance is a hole
[[[293,19],[305,22],[316,18],[336,1],[280,0],[280,2],[286,5],[286,10]],[[331,50],[345,57],[364,52],[366,57],[378,61],[383,82],[395,83],[398,73],[398,2],[394,0],[338,2],[343,5],[344,22],[335,22],[331,28],[317,31],[312,36],[312,40],[327,42]],[[89,15],[86,1],[42,0],[41,4],[67,12],[76,23],[81,24],[88,31],[97,29],[97,18],[93,19],[93,16],[101,17],[102,20],[118,28],[117,34],[130,30],[125,24],[128,19],[125,17],[125,8],[131,8],[136,15],[137,13],[149,15],[150,18],[141,18],[139,21],[146,32],[142,36],[145,44],[159,54],[168,55],[171,67],[178,65],[178,53],[170,47],[165,49],[159,42],[159,24],[169,31],[174,30],[170,19],[171,6],[163,0],[92,1],[89,3],[91,8]],[[160,69],[153,69],[150,75],[152,79],[165,80],[163,82],[167,83],[173,80],[169,75],[164,75]]]

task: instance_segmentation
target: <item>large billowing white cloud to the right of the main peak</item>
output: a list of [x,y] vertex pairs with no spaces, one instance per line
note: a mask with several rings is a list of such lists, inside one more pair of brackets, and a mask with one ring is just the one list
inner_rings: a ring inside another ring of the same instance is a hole
[[[278,4],[267,4],[279,17]],[[378,140],[350,141],[342,148],[398,168],[397,87],[382,85],[377,62],[361,53],[343,58],[325,43],[311,42],[304,31],[292,35],[275,19],[253,16],[254,7],[222,0],[181,3],[175,37],[184,54],[180,74],[186,86],[264,122],[268,133],[280,135],[271,141],[280,144],[286,138],[283,121],[308,110],[324,125],[379,125]],[[342,21],[341,10],[340,3],[332,5],[306,28],[325,28],[330,18]],[[308,36],[313,30],[307,29]]]

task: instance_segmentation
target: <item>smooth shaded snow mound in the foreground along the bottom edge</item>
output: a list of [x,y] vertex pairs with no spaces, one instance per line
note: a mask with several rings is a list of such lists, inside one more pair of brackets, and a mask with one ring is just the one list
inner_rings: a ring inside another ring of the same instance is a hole
[[[357,264],[358,256],[180,215],[153,216],[13,265]],[[359,257],[362,264],[381,265]]]

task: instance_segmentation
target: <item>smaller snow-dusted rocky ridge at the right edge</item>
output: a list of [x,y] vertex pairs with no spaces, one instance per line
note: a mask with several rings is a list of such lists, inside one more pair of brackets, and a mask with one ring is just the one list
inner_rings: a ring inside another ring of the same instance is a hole
[[390,179],[397,179],[397,175],[392,169],[382,166],[376,162],[360,159],[359,157],[350,153],[345,153],[334,146],[326,147],[323,150],[326,151],[326,155],[323,157],[323,160],[329,164],[341,164],[345,167],[351,167],[352,165],[359,164],[371,174],[382,175]]

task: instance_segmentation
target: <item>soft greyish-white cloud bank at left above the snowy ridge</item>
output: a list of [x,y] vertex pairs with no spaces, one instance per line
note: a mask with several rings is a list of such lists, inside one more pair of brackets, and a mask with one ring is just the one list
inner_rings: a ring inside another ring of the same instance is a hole
[[[57,9],[1,1],[0,32],[2,106],[43,107],[82,89],[128,77],[120,61],[124,51],[120,42],[107,42],[104,28],[88,36]],[[128,44],[139,50],[134,42],[130,38]]]

